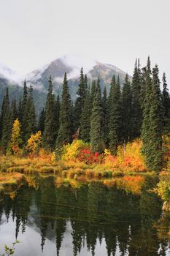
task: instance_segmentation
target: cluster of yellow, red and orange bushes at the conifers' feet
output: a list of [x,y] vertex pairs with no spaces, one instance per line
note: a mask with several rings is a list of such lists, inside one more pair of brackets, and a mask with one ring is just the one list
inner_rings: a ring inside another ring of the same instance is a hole
[[144,158],[141,154],[142,142],[135,140],[127,143],[125,147],[119,146],[117,155],[112,156],[109,149],[105,149],[104,154],[93,153],[88,143],[82,140],[74,140],[72,144],[63,146],[61,159],[72,162],[85,162],[87,165],[98,165],[105,170],[144,171]]

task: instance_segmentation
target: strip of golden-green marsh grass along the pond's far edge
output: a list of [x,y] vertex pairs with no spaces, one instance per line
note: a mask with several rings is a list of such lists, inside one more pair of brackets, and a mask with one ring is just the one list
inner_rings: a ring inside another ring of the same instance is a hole
[[85,162],[58,162],[48,158],[17,158],[14,156],[0,157],[0,172],[4,173],[54,173],[60,176],[73,178],[76,176],[88,176],[93,178],[112,178],[125,176],[125,174],[136,175],[139,171],[128,171],[115,164],[114,160],[105,163],[87,165]]

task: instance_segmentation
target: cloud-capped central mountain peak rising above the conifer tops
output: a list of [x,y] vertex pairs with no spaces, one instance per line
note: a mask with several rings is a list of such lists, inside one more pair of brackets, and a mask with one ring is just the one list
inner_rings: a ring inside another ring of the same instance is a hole
[[[48,79],[50,75],[53,78],[53,89],[55,94],[61,94],[64,73],[67,72],[69,80],[69,89],[72,99],[76,98],[79,84],[80,69],[83,67],[84,74],[88,76],[88,83],[93,79],[101,80],[101,89],[107,86],[109,90],[112,75],[120,77],[120,84],[123,84],[125,72],[111,64],[103,64],[99,61],[81,59],[79,56],[63,56],[55,59],[41,69],[36,69],[26,76],[28,83],[34,85],[34,89],[47,93]],[[130,76],[129,76],[130,77]],[[130,77],[131,78],[131,77]]]

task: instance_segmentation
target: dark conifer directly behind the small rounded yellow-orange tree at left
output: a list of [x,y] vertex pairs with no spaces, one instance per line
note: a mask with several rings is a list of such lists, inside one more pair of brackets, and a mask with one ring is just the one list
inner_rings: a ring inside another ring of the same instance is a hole
[[30,86],[28,91],[28,100],[26,105],[26,134],[25,140],[27,141],[31,134],[36,131],[36,114],[33,99],[33,87]]

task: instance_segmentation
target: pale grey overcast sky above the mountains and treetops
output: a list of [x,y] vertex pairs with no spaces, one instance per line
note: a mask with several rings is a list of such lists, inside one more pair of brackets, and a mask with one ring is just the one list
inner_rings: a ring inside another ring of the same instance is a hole
[[31,72],[66,53],[132,74],[150,55],[170,83],[169,0],[0,0],[0,61]]

